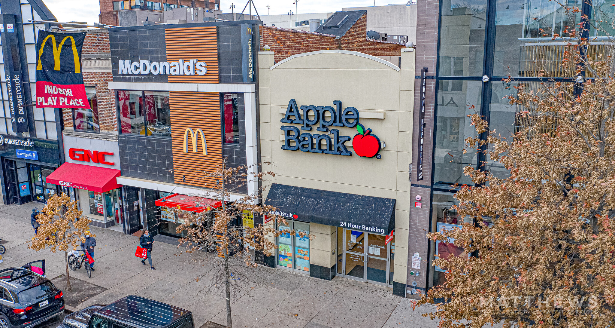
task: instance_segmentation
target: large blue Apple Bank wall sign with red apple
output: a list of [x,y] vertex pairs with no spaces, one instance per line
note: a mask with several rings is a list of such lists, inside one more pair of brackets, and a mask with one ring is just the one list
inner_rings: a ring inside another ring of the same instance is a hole
[[[280,122],[301,124],[303,125],[301,130],[305,131],[311,131],[312,126],[317,126],[316,130],[325,132],[325,134],[301,133],[298,127],[282,126],[280,127],[284,131],[282,149],[351,156],[352,152],[345,145],[347,141],[351,140],[351,137],[339,135],[338,129],[329,130],[329,127],[355,127],[359,133],[352,138],[354,152],[361,157],[380,159],[380,140],[378,136],[371,133],[371,129],[365,129],[359,123],[357,108],[346,107],[342,109],[342,102],[339,100],[335,100],[333,105],[335,105],[335,108],[314,105],[298,107],[295,99],[291,99],[288,102],[284,118]],[[303,116],[301,116],[299,109],[303,110]],[[310,119],[310,116],[313,116],[313,118]],[[329,116],[328,119],[327,116]]]

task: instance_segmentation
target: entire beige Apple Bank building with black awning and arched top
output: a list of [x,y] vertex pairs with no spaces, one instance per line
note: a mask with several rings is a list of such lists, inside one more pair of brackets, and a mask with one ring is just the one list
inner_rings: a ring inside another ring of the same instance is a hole
[[273,264],[411,294],[414,49],[274,55],[258,54],[262,170],[275,173],[263,181],[264,202],[315,238],[280,236]]

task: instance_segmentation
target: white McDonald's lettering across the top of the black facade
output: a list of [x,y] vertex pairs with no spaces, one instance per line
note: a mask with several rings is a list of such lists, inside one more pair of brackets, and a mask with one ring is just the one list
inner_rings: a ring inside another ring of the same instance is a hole
[[117,74],[133,75],[205,75],[207,74],[207,63],[199,62],[197,59],[183,60],[178,62],[150,62],[149,60],[139,60],[131,62],[129,59],[120,60]]

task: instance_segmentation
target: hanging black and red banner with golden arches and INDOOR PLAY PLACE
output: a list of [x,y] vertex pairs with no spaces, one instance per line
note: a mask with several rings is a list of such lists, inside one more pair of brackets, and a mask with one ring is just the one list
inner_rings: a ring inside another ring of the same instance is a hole
[[36,45],[36,107],[90,108],[81,73],[86,32],[39,31]]

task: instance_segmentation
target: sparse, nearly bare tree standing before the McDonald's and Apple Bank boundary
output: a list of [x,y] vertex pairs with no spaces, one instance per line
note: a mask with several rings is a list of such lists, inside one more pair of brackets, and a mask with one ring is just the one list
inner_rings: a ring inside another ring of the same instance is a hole
[[[268,163],[269,164],[269,163]],[[173,208],[171,212],[181,223],[177,233],[183,234],[181,253],[191,254],[205,272],[196,277],[204,282],[204,289],[226,296],[226,322],[232,327],[231,296],[253,289],[270,274],[259,266],[264,255],[274,255],[276,237],[290,234],[313,239],[301,231],[277,229],[288,226],[284,218],[276,215],[276,208],[264,205],[264,188],[245,194],[250,181],[260,181],[273,172],[255,172],[255,167],[224,168],[202,172],[204,180],[216,181],[207,195],[208,200],[189,211]],[[240,191],[244,193],[240,193]],[[264,225],[255,225],[255,217],[267,217]],[[180,253],[180,254],[181,254]]]

